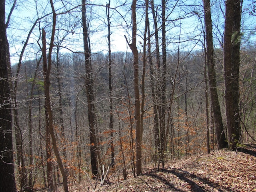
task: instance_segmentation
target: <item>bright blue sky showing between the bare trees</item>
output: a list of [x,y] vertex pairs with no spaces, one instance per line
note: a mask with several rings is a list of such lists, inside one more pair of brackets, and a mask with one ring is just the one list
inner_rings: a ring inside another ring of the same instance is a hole
[[[50,14],[51,8],[48,1],[40,0],[17,0],[16,7],[12,13],[10,24],[7,28],[7,36],[10,44],[10,54],[12,64],[18,61],[24,42],[28,36],[32,25],[37,18],[41,18],[46,14]],[[223,2],[223,1],[220,1]],[[13,0],[6,0],[6,18],[12,6]],[[106,28],[106,1],[103,0],[88,0],[88,4],[97,4],[103,6],[91,6],[87,8],[88,20],[90,20],[90,42],[92,52],[103,51],[107,53],[107,33]],[[131,39],[131,16],[130,16],[130,4],[120,7],[122,1],[111,0],[110,7],[116,8],[110,10],[111,15],[111,45],[112,52],[122,51],[130,52],[130,48],[124,38],[127,36],[128,40]],[[244,1],[244,8],[248,7],[250,3],[249,0]],[[54,7],[57,13],[66,12],[80,4],[80,0],[72,0],[68,3],[68,0],[55,0]],[[139,2],[138,2],[139,4]],[[159,0],[155,0],[155,5],[159,4]],[[202,12],[202,1],[201,0],[184,0],[178,1],[174,10],[172,10],[175,0],[169,0],[167,6],[167,23],[166,35],[168,37],[167,45],[170,52],[172,50],[177,50],[178,39],[180,47],[184,50],[190,50],[191,48],[202,49],[202,24],[203,12]],[[197,6],[188,6],[188,4],[196,4]],[[159,8],[160,6],[158,6]],[[142,36],[144,32],[144,9],[139,8],[137,10],[137,44],[142,42]],[[155,10],[160,14],[160,10],[156,8]],[[196,14],[195,14],[196,13]],[[152,16],[150,14],[151,32],[153,33],[152,26]],[[178,18],[184,17],[184,19],[179,20]],[[214,27],[214,44],[216,47],[221,46],[221,36],[224,30],[224,16],[220,10],[220,3],[218,0],[212,1],[212,20],[217,24]],[[251,32],[255,32],[255,19],[256,16],[249,16],[244,12],[243,14],[243,27],[253,29]],[[63,40],[61,46],[61,52],[81,52],[83,51],[82,44],[82,28],[81,28],[81,14],[80,7],[73,9],[72,12],[67,14],[60,14],[57,16],[58,24],[56,28],[58,29],[56,35],[58,34],[58,40]],[[50,37],[51,34],[51,15],[44,17],[38,22],[29,39],[28,46],[26,47],[24,57],[22,61],[33,60],[36,57],[40,57],[40,31],[45,28],[46,34]],[[159,26],[160,27],[160,24]],[[67,32],[67,30],[69,32]],[[160,34],[161,35],[161,32]],[[65,39],[62,39],[65,36]],[[246,40],[251,42],[255,39],[252,33],[248,30],[244,33],[245,43]],[[56,38],[57,39],[57,38]],[[49,41],[49,40],[48,40]],[[57,42],[56,42],[57,43]],[[195,46],[195,47],[194,47]],[[138,51],[142,50],[142,47],[138,46]]]

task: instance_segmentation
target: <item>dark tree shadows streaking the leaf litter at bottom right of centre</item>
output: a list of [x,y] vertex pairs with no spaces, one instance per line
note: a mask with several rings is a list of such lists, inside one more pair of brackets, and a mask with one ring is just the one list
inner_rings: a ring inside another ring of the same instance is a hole
[[[152,178],[156,178],[158,180],[161,180],[165,185],[168,186],[168,189],[172,191],[178,191],[178,192],[186,192],[188,190],[182,190],[181,188],[178,188],[171,182],[171,177],[173,175],[177,176],[180,180],[185,181],[188,183],[188,188],[193,191],[193,192],[210,192],[210,191],[217,191],[217,192],[228,192],[228,191],[233,191],[230,188],[227,188],[225,186],[221,186],[218,183],[211,182],[207,178],[202,178],[200,176],[197,176],[195,174],[191,174],[187,171],[184,171],[182,169],[176,169],[172,168],[171,170],[168,169],[162,169],[160,172],[165,172],[170,174],[170,180],[160,176],[159,174],[156,174],[156,172],[151,172],[146,174],[147,176],[151,176]],[[195,182],[195,180],[198,180],[199,182]],[[199,184],[198,184],[199,183]],[[156,191],[154,189],[151,189],[152,191]]]

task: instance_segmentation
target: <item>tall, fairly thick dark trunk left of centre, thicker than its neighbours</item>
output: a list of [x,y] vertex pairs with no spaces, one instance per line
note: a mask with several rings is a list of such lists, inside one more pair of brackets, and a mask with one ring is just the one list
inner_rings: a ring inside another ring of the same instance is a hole
[[88,42],[88,30],[86,21],[86,0],[82,0],[82,25],[83,25],[83,38],[84,38],[84,58],[86,70],[86,94],[87,94],[87,107],[88,107],[88,122],[90,130],[90,155],[91,155],[91,168],[92,176],[96,178],[98,173],[97,166],[97,140],[95,135],[95,107],[94,107],[94,92],[93,92],[93,76],[92,64],[90,60],[90,49]]

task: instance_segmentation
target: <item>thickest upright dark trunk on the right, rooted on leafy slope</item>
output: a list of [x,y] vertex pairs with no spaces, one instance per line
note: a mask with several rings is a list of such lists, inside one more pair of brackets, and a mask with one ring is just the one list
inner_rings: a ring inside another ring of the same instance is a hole
[[239,66],[241,0],[226,0],[224,30],[224,82],[228,145],[236,148],[240,138],[239,120]]

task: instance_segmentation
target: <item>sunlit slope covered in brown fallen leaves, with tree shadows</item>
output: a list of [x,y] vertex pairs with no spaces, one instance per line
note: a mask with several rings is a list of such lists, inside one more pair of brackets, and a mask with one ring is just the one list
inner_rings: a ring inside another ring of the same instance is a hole
[[84,182],[80,190],[70,186],[70,192],[256,192],[256,144],[183,158],[127,180],[112,175],[109,184],[94,188]]

